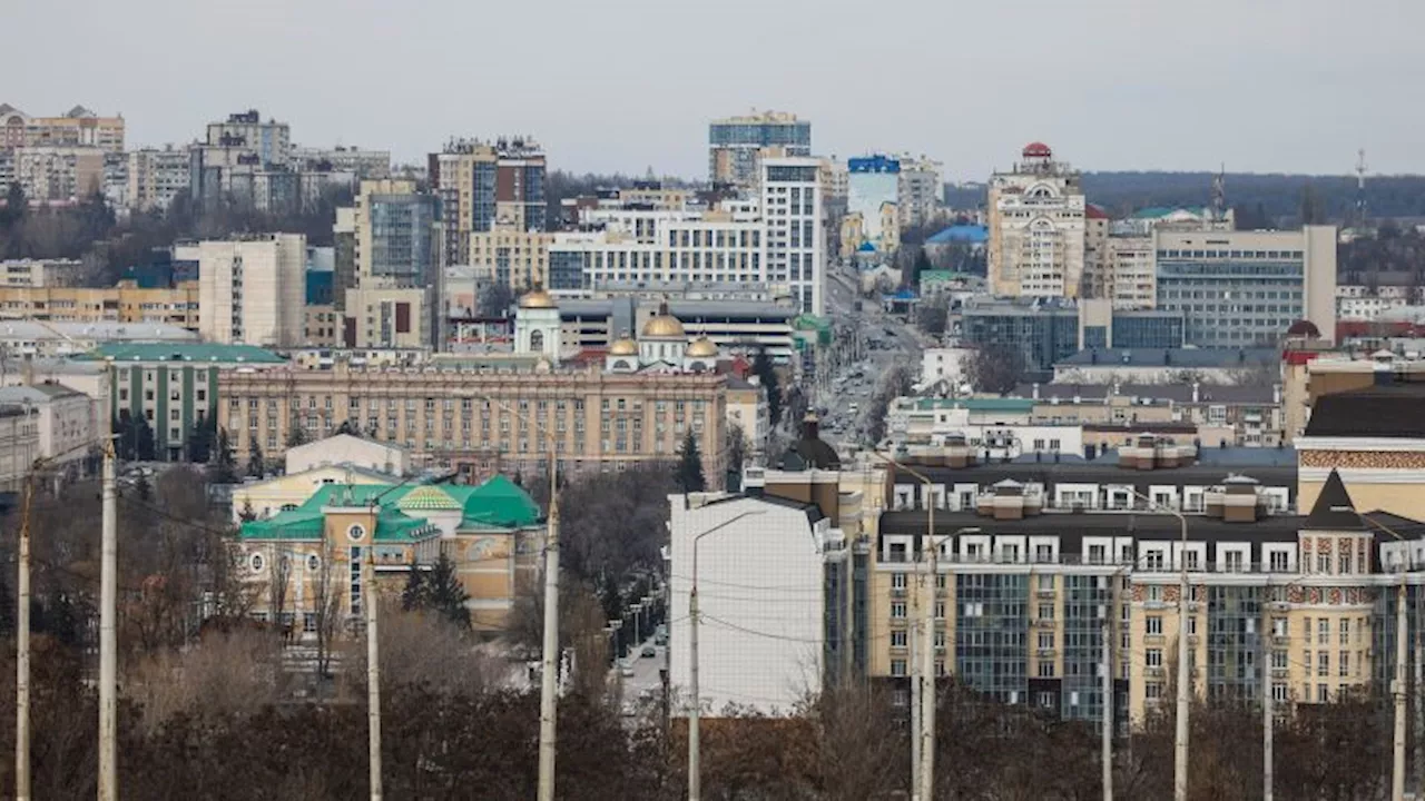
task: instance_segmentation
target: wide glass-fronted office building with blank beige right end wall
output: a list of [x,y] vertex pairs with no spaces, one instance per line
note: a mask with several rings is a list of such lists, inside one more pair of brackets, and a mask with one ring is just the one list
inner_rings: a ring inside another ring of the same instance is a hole
[[1183,312],[1190,345],[1277,345],[1298,319],[1335,338],[1337,229],[1153,234],[1157,308]]

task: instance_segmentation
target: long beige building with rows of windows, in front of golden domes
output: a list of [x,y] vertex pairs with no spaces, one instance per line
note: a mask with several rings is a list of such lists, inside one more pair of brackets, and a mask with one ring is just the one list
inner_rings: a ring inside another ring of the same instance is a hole
[[225,372],[218,425],[239,453],[256,440],[275,456],[294,425],[315,439],[351,420],[406,448],[418,465],[449,467],[497,453],[506,470],[526,475],[542,470],[550,445],[570,472],[673,460],[691,428],[708,483],[721,485],[725,376],[496,365],[361,371],[339,362],[323,371]]

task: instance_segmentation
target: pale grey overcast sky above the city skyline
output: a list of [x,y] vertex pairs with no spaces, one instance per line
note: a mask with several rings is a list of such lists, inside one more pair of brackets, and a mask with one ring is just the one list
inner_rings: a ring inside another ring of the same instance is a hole
[[123,113],[130,144],[229,111],[416,160],[533,134],[551,167],[700,177],[707,123],[812,121],[819,154],[983,180],[1084,170],[1421,172],[1421,0],[4,0],[0,103]]

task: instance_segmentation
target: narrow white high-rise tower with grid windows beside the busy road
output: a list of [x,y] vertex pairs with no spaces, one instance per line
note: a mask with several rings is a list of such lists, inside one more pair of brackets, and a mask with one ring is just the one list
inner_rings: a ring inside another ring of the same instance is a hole
[[767,271],[774,284],[791,288],[805,314],[825,309],[826,235],[821,161],[764,158],[761,214],[767,231]]

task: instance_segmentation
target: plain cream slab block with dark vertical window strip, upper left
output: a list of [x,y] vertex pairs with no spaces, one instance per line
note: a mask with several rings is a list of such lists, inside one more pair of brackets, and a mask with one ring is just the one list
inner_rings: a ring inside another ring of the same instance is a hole
[[198,245],[198,321],[208,342],[302,343],[306,237],[261,234]]

